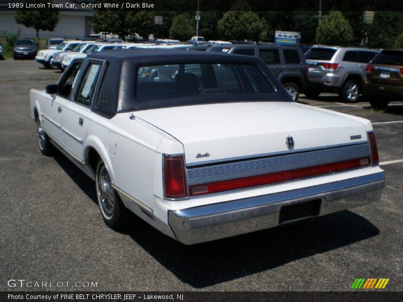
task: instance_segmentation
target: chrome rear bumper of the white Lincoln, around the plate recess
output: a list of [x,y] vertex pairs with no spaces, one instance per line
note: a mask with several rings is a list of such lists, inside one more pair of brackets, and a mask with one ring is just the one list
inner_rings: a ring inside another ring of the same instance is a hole
[[[183,244],[206,242],[371,203],[379,200],[384,185],[385,175],[380,172],[276,194],[169,210],[169,225]],[[318,214],[279,222],[283,206],[312,200],[320,203]]]

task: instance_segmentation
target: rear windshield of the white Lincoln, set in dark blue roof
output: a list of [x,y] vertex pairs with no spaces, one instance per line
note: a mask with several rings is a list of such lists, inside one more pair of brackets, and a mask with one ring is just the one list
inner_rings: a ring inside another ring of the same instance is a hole
[[186,102],[190,96],[273,93],[260,69],[249,64],[150,65],[137,73],[137,99],[143,101],[184,98]]

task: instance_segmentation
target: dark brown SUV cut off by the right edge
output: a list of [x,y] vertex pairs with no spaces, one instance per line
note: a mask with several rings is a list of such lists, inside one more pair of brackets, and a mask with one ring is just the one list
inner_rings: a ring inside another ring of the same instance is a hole
[[366,67],[364,95],[375,109],[403,101],[403,49],[382,49]]

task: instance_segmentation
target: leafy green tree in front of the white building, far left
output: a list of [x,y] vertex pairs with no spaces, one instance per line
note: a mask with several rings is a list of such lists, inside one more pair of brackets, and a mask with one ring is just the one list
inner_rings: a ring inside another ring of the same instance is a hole
[[[46,4],[51,3],[48,0],[32,0],[32,4]],[[25,27],[32,27],[36,31],[36,38],[39,41],[39,31],[49,30],[53,31],[59,21],[59,13],[57,9],[46,10],[21,10],[16,13],[16,22]]]

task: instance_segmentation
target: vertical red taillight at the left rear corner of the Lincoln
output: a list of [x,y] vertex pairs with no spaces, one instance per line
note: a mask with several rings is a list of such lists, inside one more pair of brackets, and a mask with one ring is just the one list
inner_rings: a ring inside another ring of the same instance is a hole
[[187,197],[185,160],[183,156],[164,156],[165,197]]

